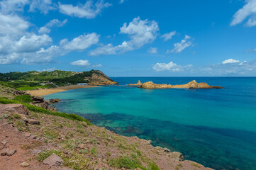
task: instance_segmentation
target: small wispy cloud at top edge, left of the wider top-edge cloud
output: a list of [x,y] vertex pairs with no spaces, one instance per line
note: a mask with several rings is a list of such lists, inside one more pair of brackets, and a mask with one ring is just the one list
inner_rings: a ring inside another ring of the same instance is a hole
[[40,11],[40,13],[47,14],[50,10],[55,10],[55,6],[52,4],[52,0],[33,0],[30,3],[29,11],[35,12]]

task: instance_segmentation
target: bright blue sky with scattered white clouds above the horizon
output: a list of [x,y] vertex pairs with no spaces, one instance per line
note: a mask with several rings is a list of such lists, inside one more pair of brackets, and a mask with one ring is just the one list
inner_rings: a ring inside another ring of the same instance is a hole
[[255,77],[256,0],[1,0],[0,72]]

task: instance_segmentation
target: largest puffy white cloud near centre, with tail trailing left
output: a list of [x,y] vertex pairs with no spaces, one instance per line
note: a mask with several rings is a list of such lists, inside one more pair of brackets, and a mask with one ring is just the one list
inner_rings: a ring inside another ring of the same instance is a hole
[[120,33],[128,34],[130,40],[123,41],[121,45],[103,45],[91,50],[89,55],[114,55],[117,52],[128,52],[139,49],[145,44],[153,42],[159,30],[155,21],[141,20],[140,17],[134,18],[129,24],[124,23],[120,28]]

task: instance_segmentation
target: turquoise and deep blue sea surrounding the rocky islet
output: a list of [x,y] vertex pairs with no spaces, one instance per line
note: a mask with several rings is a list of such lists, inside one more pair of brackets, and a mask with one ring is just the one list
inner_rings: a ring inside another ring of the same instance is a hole
[[[256,77],[118,77],[121,86],[50,94],[56,108],[120,135],[152,140],[213,169],[256,169]],[[138,89],[196,79],[225,89]]]

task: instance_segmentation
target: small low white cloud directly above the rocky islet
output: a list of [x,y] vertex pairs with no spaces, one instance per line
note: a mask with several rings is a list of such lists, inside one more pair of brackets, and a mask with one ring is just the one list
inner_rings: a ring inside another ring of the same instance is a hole
[[169,62],[169,63],[158,63],[154,64],[152,69],[155,72],[163,72],[163,71],[169,71],[169,72],[182,72],[185,69],[189,69],[192,65],[187,65],[187,66],[182,66],[178,65],[174,62]]

